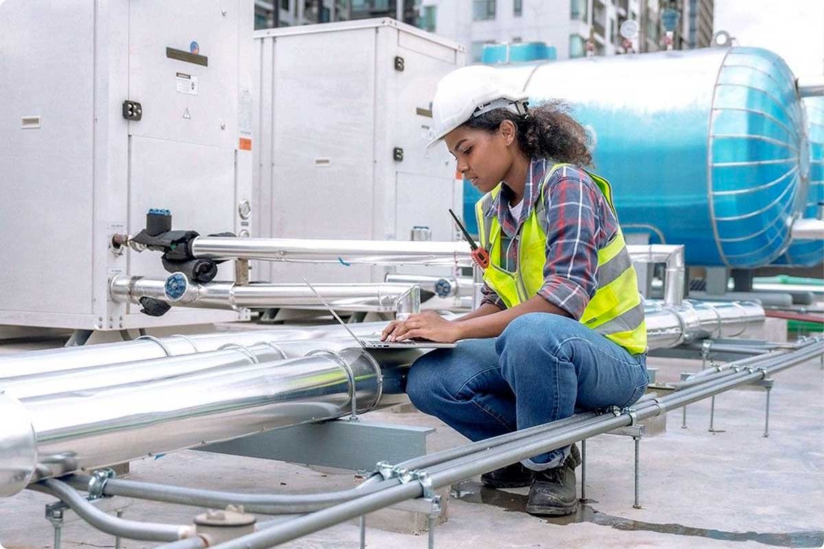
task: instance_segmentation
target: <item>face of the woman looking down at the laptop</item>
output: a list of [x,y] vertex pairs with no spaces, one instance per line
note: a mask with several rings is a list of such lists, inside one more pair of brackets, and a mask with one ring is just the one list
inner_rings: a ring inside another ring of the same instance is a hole
[[[511,128],[509,128],[511,126]],[[508,121],[495,133],[466,127],[453,129],[443,137],[457,170],[481,193],[489,193],[505,179],[513,165],[515,126]]]

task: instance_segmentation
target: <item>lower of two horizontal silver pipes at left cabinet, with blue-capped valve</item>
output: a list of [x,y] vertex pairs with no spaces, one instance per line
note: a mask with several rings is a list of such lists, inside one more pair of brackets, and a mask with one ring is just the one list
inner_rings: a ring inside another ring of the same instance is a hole
[[[420,312],[420,288],[409,284],[314,284],[317,291],[335,309],[394,311],[403,316]],[[118,303],[140,303],[150,297],[169,305],[207,309],[295,307],[325,309],[311,288],[305,284],[269,284],[250,282],[189,281],[182,272],[166,279],[118,275],[110,281],[110,295]]]

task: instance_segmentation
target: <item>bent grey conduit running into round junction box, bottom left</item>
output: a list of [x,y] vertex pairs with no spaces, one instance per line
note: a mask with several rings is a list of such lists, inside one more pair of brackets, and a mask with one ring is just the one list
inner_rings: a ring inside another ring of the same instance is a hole
[[33,491],[54,495],[89,525],[112,536],[146,542],[174,542],[195,535],[193,525],[142,523],[113,517],[89,503],[89,500],[80,495],[72,486],[54,478],[46,478],[28,487]]

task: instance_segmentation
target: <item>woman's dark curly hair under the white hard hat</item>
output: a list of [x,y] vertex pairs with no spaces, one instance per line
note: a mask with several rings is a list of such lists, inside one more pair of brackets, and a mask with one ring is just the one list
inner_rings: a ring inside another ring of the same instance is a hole
[[461,126],[489,133],[498,130],[504,120],[517,128],[518,147],[527,156],[551,158],[580,166],[592,166],[592,152],[587,130],[569,114],[569,105],[550,100],[527,114],[508,109],[494,109],[467,120]]

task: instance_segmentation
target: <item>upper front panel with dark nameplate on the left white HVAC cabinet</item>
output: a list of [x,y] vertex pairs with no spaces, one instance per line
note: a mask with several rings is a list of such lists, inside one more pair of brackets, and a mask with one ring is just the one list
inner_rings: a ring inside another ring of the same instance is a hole
[[130,135],[237,147],[237,20],[237,2],[130,3]]

